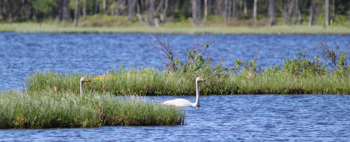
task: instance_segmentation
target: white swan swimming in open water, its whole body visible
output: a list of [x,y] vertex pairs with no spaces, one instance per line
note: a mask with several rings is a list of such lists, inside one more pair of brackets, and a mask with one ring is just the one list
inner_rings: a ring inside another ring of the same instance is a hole
[[203,80],[201,77],[197,77],[196,79],[196,102],[191,103],[190,101],[186,99],[174,99],[174,100],[167,100],[163,104],[167,105],[175,105],[175,106],[200,106],[199,104],[199,83]]

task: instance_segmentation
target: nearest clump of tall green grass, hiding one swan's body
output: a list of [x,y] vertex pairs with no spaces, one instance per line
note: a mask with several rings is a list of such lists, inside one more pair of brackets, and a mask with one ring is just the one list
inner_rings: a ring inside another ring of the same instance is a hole
[[0,129],[183,125],[185,114],[173,106],[140,97],[87,92],[0,93]]

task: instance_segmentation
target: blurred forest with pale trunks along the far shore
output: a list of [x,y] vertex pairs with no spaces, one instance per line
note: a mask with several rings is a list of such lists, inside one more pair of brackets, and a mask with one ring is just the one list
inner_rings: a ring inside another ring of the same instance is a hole
[[[188,21],[193,25],[348,26],[349,0],[0,0],[0,22],[85,21],[125,17],[159,26]],[[95,16],[96,17],[96,16]]]

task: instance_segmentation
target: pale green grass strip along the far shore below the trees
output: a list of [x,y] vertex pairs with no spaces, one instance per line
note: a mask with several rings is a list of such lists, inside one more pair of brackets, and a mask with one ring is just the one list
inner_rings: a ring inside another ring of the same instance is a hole
[[118,27],[74,27],[72,24],[13,23],[0,24],[1,32],[20,33],[173,33],[173,34],[349,34],[350,28],[343,26],[276,25],[273,27],[191,26],[168,23],[157,27],[128,24]]

